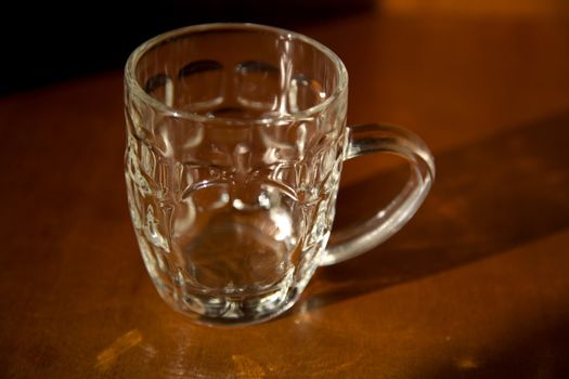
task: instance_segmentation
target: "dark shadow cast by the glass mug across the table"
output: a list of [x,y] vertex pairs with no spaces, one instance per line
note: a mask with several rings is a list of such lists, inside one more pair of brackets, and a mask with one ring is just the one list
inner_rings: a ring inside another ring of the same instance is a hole
[[[321,270],[294,313],[416,280],[569,226],[569,113],[436,155],[438,179],[414,219],[366,254]],[[336,224],[365,213],[391,170],[342,188]],[[359,201],[346,199],[358,198]]]

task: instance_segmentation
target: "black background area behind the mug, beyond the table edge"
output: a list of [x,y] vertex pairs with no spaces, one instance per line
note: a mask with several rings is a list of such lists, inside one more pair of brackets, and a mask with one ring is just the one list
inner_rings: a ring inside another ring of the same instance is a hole
[[119,69],[144,40],[173,28],[253,22],[293,28],[364,12],[371,0],[70,2],[3,5],[0,95]]

